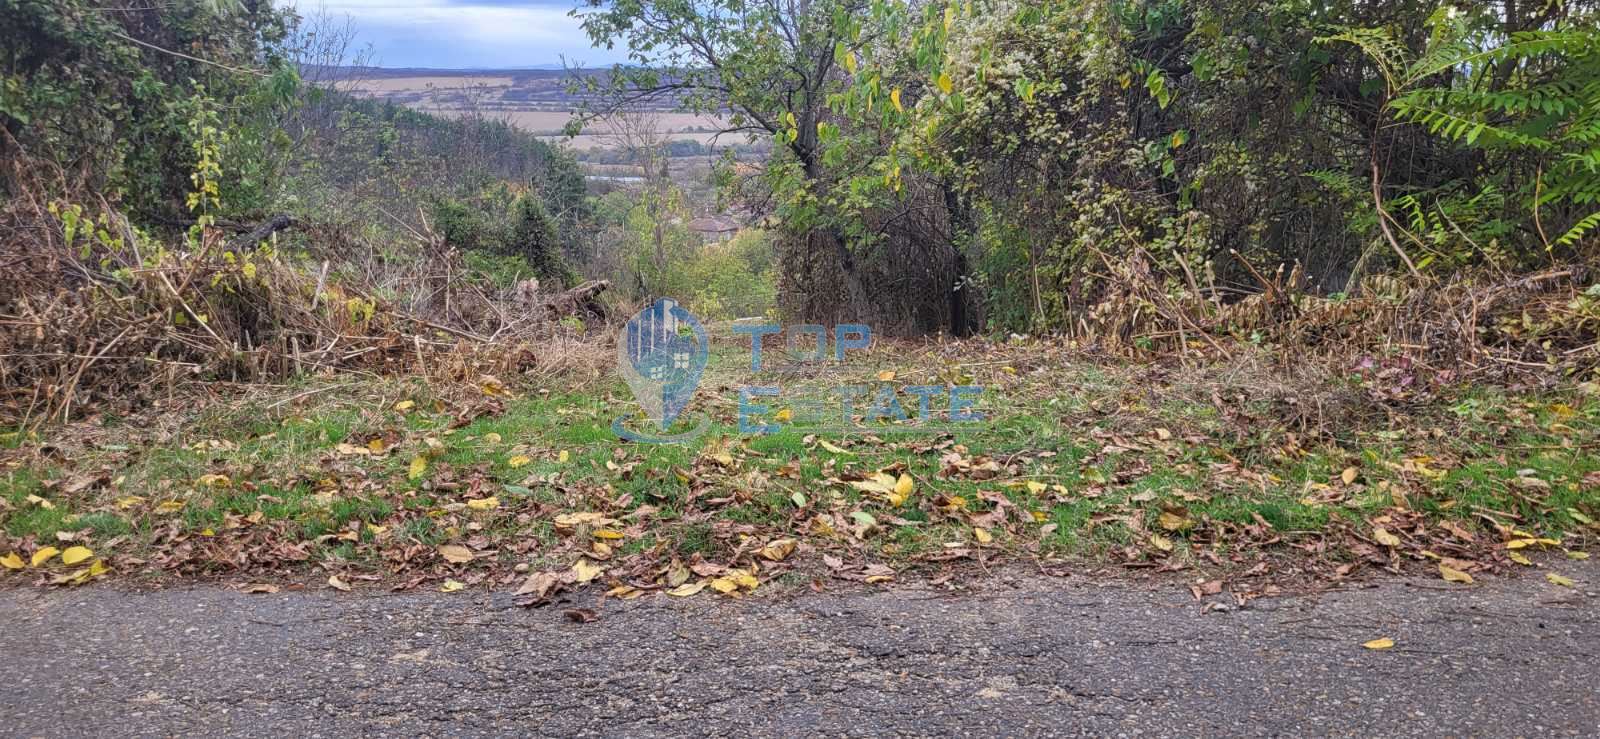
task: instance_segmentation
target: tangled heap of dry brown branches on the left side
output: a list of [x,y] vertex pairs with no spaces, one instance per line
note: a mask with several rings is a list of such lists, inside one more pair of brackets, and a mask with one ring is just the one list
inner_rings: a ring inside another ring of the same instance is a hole
[[187,381],[549,371],[541,347],[570,331],[557,320],[605,315],[605,282],[486,290],[442,240],[419,237],[413,254],[390,259],[402,267],[374,269],[216,229],[158,242],[104,202],[90,211],[16,198],[0,213],[0,424],[126,409]]

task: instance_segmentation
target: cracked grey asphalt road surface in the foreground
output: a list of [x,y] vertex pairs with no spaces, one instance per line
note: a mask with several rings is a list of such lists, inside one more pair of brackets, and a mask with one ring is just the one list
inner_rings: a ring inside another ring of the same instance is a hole
[[1552,569],[1578,587],[1386,579],[1202,613],[1176,584],[1011,574],[613,600],[587,624],[498,593],[10,589],[0,734],[1595,736],[1600,566]]

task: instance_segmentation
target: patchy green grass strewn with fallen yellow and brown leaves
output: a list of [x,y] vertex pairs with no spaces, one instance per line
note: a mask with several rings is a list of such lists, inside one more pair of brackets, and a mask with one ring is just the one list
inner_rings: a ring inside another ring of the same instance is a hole
[[[504,398],[502,413],[466,424],[454,422],[461,400],[435,397],[416,382],[312,395],[306,405],[269,398],[202,411],[171,443],[86,453],[78,467],[106,465],[117,480],[88,497],[51,489],[72,473],[61,464],[0,470],[6,537],[0,553],[27,549],[26,541],[48,542],[58,531],[88,531],[146,557],[162,545],[157,533],[173,525],[179,536],[216,541],[282,525],[272,528],[275,536],[302,542],[310,561],[382,569],[406,547],[466,539],[494,544],[501,563],[558,561],[590,541],[587,529],[558,529],[554,517],[605,510],[645,513],[621,525],[630,526],[613,541],[621,557],[717,560],[749,552],[746,539],[802,537],[821,552],[893,563],[979,545],[1102,560],[1130,552],[1166,557],[1152,545],[1158,537],[1178,544],[1171,557],[1187,547],[1235,552],[1248,544],[1242,533],[1262,525],[1286,542],[1336,526],[1366,531],[1365,521],[1397,501],[1427,520],[1472,528],[1501,520],[1574,545],[1589,541],[1590,521],[1600,518],[1594,483],[1586,480],[1600,472],[1600,456],[1574,446],[1600,430],[1600,400],[1573,392],[1466,387],[1394,429],[1373,422],[1307,437],[1275,425],[1264,400],[1238,408],[1264,419],[1240,429],[1210,393],[1144,387],[1136,374],[1093,365],[1013,373],[995,362],[952,368],[883,352],[864,366],[830,368],[821,381],[802,384],[875,382],[877,368],[894,368],[898,384],[971,374],[990,389],[979,405],[989,421],[950,437],[811,438],[803,427],[742,435],[736,390],[707,390],[750,382],[747,354],[722,344],[678,425],[712,419],[690,445],[621,443],[611,421],[635,408],[619,381]],[[307,390],[315,387],[285,392]],[[411,406],[397,408],[402,400]],[[794,398],[763,401],[784,408]],[[906,403],[915,408],[915,398]],[[382,454],[349,453],[373,438],[394,446]],[[846,451],[829,451],[819,440]],[[30,443],[14,440],[18,448]],[[946,473],[947,454],[994,459],[1016,472]],[[427,464],[413,478],[414,457]],[[904,465],[915,480],[904,505],[840,481],[890,465]],[[1341,480],[1347,467],[1358,470],[1355,485]],[[206,475],[226,481],[203,485]],[[1531,483],[1518,477],[1547,488],[1523,488]],[[466,507],[483,496],[496,496],[499,507]],[[142,501],[126,502],[134,497]],[[994,501],[1005,502],[998,523],[986,517],[995,512]],[[163,502],[181,507],[162,510]],[[1184,510],[1189,523],[1168,531],[1163,509]],[[856,536],[853,512],[872,515],[878,528]],[[978,544],[974,521],[992,542]],[[357,541],[338,536],[352,526]]]

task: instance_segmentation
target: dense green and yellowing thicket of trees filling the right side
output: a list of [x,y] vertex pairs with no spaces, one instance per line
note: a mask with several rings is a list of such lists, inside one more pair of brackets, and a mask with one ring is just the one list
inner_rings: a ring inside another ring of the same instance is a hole
[[782,226],[779,301],[805,318],[1165,315],[1128,331],[1181,344],[1283,293],[1587,264],[1600,234],[1592,0],[590,5],[590,35],[645,62],[610,99],[774,142],[742,192]]

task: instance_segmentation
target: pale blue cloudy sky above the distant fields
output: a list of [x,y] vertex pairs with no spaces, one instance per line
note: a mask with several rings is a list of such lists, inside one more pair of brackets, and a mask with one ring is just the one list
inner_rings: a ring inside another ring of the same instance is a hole
[[622,61],[589,46],[568,13],[578,0],[285,0],[302,16],[349,16],[382,67],[586,67]]

